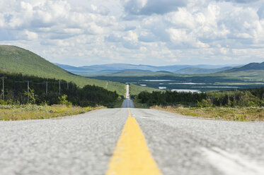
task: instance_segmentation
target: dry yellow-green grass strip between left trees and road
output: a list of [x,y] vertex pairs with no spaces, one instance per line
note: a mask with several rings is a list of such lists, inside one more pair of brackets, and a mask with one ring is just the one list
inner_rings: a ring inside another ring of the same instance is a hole
[[26,105],[0,105],[0,121],[17,121],[30,119],[50,119],[61,116],[84,114],[94,109],[104,107],[67,107],[66,105],[38,106],[35,104]]

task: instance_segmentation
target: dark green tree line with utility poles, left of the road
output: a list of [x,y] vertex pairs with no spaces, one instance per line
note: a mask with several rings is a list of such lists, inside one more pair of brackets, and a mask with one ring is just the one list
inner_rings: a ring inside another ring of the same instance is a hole
[[[3,80],[4,77],[4,91]],[[103,105],[113,107],[118,98],[116,92],[96,85],[78,87],[75,83],[37,76],[24,76],[21,73],[0,72],[1,103],[8,104],[69,104],[81,107]],[[4,98],[4,99],[3,99]]]

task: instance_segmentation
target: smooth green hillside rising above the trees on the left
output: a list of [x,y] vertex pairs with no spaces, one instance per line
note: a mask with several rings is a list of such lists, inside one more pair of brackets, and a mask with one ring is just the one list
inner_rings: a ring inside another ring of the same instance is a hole
[[[0,70],[11,73],[22,73],[28,76],[40,78],[55,78],[76,83],[80,87],[84,85],[98,85],[105,87],[106,80],[96,80],[76,76],[50,63],[42,57],[26,49],[15,46],[0,45]],[[109,83],[108,90],[116,91],[119,95],[125,94],[125,84]]]

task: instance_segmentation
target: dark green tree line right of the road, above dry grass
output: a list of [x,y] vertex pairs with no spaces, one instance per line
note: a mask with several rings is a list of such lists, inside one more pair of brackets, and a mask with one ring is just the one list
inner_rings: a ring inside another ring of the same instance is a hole
[[154,105],[189,107],[264,107],[264,87],[222,92],[140,92],[139,102]]

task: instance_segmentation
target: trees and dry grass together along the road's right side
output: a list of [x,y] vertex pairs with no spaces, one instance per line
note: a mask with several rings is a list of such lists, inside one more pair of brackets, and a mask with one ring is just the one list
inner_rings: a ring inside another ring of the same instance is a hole
[[222,92],[141,92],[135,107],[232,121],[264,121],[264,87]]

